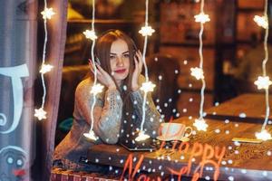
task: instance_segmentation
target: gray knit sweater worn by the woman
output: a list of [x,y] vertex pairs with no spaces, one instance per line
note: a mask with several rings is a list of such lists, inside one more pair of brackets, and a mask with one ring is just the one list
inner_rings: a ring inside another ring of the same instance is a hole
[[[139,79],[139,85],[144,81],[144,77]],[[94,144],[118,142],[123,125],[126,120],[122,120],[122,100],[118,90],[105,90],[96,99],[93,111],[93,131],[99,137],[95,142],[83,136],[87,133],[91,124],[91,108],[93,96],[90,94],[92,79],[88,78],[79,83],[75,90],[75,102],[73,111],[73,127],[63,141],[55,148],[53,160],[69,160],[78,163],[80,157],[86,157],[87,150]],[[132,117],[133,129],[140,129],[142,116],[143,92],[136,90],[131,93],[133,102]],[[160,113],[156,110],[151,95],[147,97],[146,118],[143,128],[152,138],[157,136],[160,127]],[[66,166],[67,167],[67,166]],[[69,168],[69,167],[68,167]]]

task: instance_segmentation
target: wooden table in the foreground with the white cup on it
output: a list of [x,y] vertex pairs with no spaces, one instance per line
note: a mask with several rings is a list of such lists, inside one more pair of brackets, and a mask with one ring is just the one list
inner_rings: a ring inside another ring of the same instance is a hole
[[[261,129],[261,125],[231,120],[229,123],[216,119],[206,120],[209,124],[208,130],[206,132],[199,131],[196,135],[190,136],[189,149],[186,153],[184,151],[180,153],[179,149],[171,152],[171,148],[163,148],[153,152],[131,152],[118,145],[102,144],[89,150],[88,159],[92,163],[124,167],[129,155],[133,154],[133,157],[137,157],[137,160],[133,162],[133,167],[143,156],[141,170],[167,174],[170,173],[169,168],[180,171],[181,167],[188,166],[194,144],[199,143],[202,146],[209,144],[211,147],[219,146],[219,150],[226,147],[226,152],[219,166],[219,180],[232,180],[232,178],[234,180],[272,180],[272,141],[261,144],[240,143],[240,145],[231,141],[233,137],[254,138],[255,132]],[[186,118],[174,121],[188,126],[193,122],[193,120]],[[272,132],[271,126],[267,126],[267,129]],[[162,159],[161,153],[165,151],[171,152],[171,155]],[[199,166],[202,157],[195,158],[189,176],[193,175],[193,171]],[[213,167],[205,167],[202,177],[209,176],[212,179],[214,171]]]

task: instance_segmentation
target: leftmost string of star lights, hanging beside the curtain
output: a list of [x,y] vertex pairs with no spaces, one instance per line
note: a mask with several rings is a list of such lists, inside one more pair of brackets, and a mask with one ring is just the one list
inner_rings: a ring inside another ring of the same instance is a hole
[[44,95],[42,99],[42,106],[40,109],[35,109],[34,117],[36,117],[39,120],[46,119],[46,114],[47,112],[44,110],[44,102],[45,102],[45,97],[46,97],[46,86],[44,82],[44,74],[47,73],[48,71],[51,71],[53,69],[53,66],[50,64],[45,63],[45,55],[46,55],[46,45],[47,45],[47,20],[51,19],[53,14],[53,8],[47,8],[47,2],[44,0],[44,11],[41,13],[43,14],[43,19],[44,19],[44,50],[43,50],[43,62],[42,62],[42,68],[40,70],[41,73],[41,78],[42,78],[42,83],[43,83],[43,90],[44,90]]

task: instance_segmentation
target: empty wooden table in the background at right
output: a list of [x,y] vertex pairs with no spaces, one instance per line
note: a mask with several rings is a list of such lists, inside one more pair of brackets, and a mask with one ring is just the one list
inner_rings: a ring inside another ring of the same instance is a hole
[[[270,96],[269,105],[272,106]],[[207,112],[208,119],[231,119],[237,121],[248,121],[263,123],[266,115],[266,103],[264,94],[243,94],[233,100],[228,100],[212,107]],[[245,113],[246,118],[241,118],[240,114]],[[272,119],[272,109],[270,108],[269,119]]]

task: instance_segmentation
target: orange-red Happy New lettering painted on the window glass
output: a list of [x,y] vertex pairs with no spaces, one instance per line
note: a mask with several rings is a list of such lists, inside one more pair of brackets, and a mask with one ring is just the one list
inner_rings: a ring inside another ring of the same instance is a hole
[[[177,144],[173,145],[172,149],[176,149]],[[163,147],[163,146],[162,146]],[[160,148],[162,148],[160,147]],[[226,148],[219,148],[216,146],[213,148],[209,144],[204,144],[202,145],[199,142],[195,142],[192,145],[191,151],[189,152],[189,143],[188,142],[182,142],[180,144],[180,147],[178,148],[179,153],[189,153],[189,161],[188,165],[184,167],[180,167],[180,170],[174,170],[171,167],[167,167],[168,171],[170,174],[178,176],[178,180],[181,180],[182,176],[189,176],[189,174],[192,174],[191,180],[198,180],[199,177],[202,176],[203,174],[203,168],[206,165],[211,165],[215,169],[214,174],[213,174],[213,179],[218,180],[219,178],[219,166],[222,161],[222,158],[225,155]],[[192,167],[192,160],[193,158],[196,157],[201,157],[201,161],[199,162],[198,167],[195,168],[195,170],[191,173],[191,167]],[[141,155],[140,159],[138,160],[137,164],[135,165],[134,169],[132,166],[133,163],[133,155],[130,154],[129,157],[127,157],[127,160],[124,164],[123,171],[121,174],[121,180],[124,178],[124,174],[126,171],[129,173],[129,177],[127,178],[128,180],[135,180],[135,175],[137,171],[140,169],[142,161],[144,159],[144,156]],[[138,176],[138,180],[150,180],[151,178],[149,176],[146,176],[142,174],[141,176]],[[160,176],[157,177],[157,180],[161,180]]]

